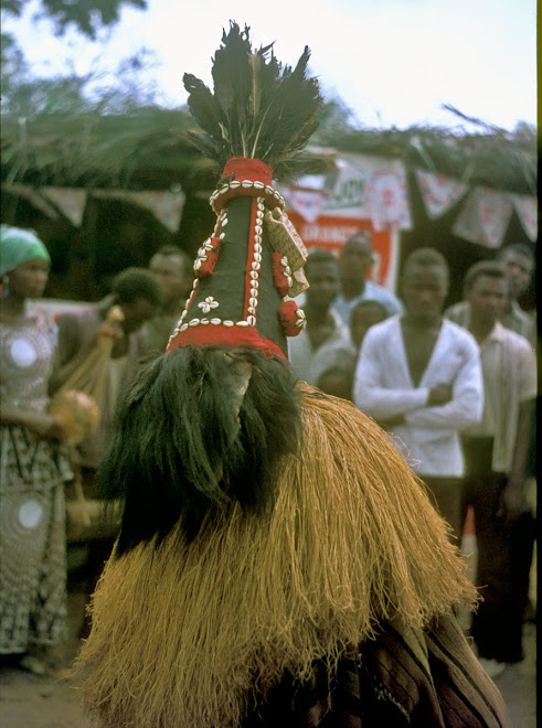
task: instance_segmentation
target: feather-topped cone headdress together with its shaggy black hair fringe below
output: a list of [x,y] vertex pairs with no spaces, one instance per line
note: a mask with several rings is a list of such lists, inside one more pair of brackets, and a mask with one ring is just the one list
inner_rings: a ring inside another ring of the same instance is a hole
[[98,473],[109,497],[126,494],[119,555],[178,522],[193,538],[232,501],[265,507],[274,468],[297,451],[300,410],[285,360],[286,335],[305,323],[290,297],[306,287],[306,250],[272,180],[296,169],[316,128],[321,98],[305,76],[308,57],[306,49],[283,69],[270,46],[254,53],[248,29],[232,23],[214,57],[214,94],[184,76],[202,127],[189,137],[223,176],[185,310],[167,353],[124,394]]

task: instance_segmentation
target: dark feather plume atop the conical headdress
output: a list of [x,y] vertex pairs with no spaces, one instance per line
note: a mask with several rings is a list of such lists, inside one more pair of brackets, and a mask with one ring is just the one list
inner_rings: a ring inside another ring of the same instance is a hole
[[184,74],[188,104],[201,131],[184,135],[202,153],[224,167],[231,157],[258,159],[280,179],[296,171],[297,157],[316,130],[322,103],[318,81],[306,75],[310,51],[296,67],[281,66],[273,44],[254,51],[249,28],[230,23],[213,58],[212,93]]

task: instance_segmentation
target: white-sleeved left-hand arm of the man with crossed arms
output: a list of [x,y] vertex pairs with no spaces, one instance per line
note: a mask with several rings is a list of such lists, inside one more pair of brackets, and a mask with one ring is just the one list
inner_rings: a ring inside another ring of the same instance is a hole
[[427,404],[429,390],[426,387],[418,389],[389,388],[383,384],[384,367],[390,366],[385,361],[384,342],[369,330],[363,340],[360,357],[354,375],[354,404],[371,417],[382,424],[389,424],[392,418],[396,420],[402,416]]

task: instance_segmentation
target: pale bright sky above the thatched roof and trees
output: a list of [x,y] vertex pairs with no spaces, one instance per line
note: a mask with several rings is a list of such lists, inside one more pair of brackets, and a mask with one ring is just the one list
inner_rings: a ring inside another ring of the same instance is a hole
[[211,57],[235,20],[253,45],[274,42],[284,64],[308,45],[325,96],[340,97],[361,127],[454,126],[443,104],[503,129],[536,124],[535,0],[148,0],[96,43],[54,38],[49,21],[32,22],[38,7],[3,21],[35,75],[115,68],[145,46],[166,106],[185,103],[185,72],[212,85]]

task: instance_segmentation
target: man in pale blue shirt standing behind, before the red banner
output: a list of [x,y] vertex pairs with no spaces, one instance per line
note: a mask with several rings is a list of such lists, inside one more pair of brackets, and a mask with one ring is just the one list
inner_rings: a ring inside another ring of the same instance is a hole
[[394,293],[366,279],[373,264],[370,232],[354,233],[344,243],[339,258],[341,290],[331,306],[347,326],[350,325],[350,315],[358,303],[368,299],[382,303],[387,315],[403,312],[403,306]]

